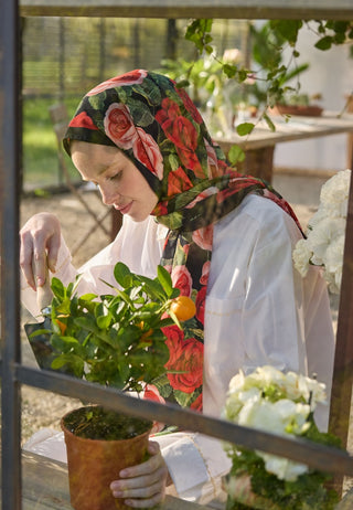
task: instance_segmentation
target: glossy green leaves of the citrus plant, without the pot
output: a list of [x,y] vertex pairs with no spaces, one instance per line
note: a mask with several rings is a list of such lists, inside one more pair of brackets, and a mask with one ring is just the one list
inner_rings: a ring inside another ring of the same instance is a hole
[[180,325],[164,315],[180,290],[162,266],[154,279],[131,273],[122,263],[115,266],[114,275],[120,288],[107,284],[114,294],[101,296],[77,296],[79,277],[67,287],[54,277],[51,329],[34,334],[50,336],[53,369],[139,392],[142,383],[165,372],[169,350],[162,328]]

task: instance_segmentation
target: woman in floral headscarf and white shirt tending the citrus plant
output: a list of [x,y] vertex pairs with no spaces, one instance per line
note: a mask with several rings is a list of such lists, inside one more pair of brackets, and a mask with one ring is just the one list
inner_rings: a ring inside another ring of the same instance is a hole
[[[104,291],[101,279],[114,281],[117,261],[146,276],[161,263],[196,304],[196,327],[168,333],[174,371],[168,387],[156,384],[147,396],[169,395],[220,416],[231,378],[264,364],[314,372],[330,390],[328,294],[318,269],[304,279],[293,269],[292,248],[302,235],[297,219],[268,184],[227,166],[183,89],[143,70],[111,78],[83,98],[64,147],[82,178],[124,215],[117,238],[79,269],[79,291]],[[34,316],[46,259],[51,273],[74,279],[60,222],[41,213],[21,231],[23,301]],[[156,504],[169,475],[180,497],[205,502],[218,496],[228,470],[218,442],[186,433],[158,442],[163,456],[151,442],[151,459],[113,481],[115,497],[131,507]]]

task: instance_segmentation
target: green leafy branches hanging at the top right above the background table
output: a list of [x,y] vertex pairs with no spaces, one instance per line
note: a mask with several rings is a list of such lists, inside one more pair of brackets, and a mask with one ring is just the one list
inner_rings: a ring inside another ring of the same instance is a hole
[[[259,119],[264,119],[274,130],[275,126],[266,114],[267,109],[276,103],[286,103],[287,94],[298,94],[300,89],[298,77],[309,67],[308,64],[299,65],[297,62],[300,56],[297,47],[298,36],[304,25],[317,33],[318,41],[314,46],[318,50],[325,51],[332,45],[350,44],[353,40],[353,21],[270,20],[258,29],[249,24],[253,60],[259,65],[259,70],[254,72],[240,65],[222,62],[216,56],[216,50],[211,45],[212,20],[192,20],[186,29],[185,39],[195,44],[199,56],[202,56],[202,53],[213,55],[217,62],[218,75],[243,84],[243,93],[249,104],[252,98],[255,98],[256,106],[263,108]],[[285,49],[290,50],[288,64],[282,62]],[[353,44],[351,44],[351,54],[353,56]],[[192,65],[189,63],[190,68]],[[293,77],[297,78],[296,87],[288,85],[289,79]],[[237,132],[246,136],[250,130],[248,126],[240,125],[237,127]]]

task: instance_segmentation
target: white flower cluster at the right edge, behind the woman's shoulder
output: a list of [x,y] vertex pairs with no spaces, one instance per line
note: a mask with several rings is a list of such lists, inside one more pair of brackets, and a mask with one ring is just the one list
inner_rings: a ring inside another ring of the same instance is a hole
[[309,265],[322,266],[333,294],[340,294],[351,170],[338,172],[321,188],[320,205],[308,224],[306,240],[293,251],[295,267],[306,276]]

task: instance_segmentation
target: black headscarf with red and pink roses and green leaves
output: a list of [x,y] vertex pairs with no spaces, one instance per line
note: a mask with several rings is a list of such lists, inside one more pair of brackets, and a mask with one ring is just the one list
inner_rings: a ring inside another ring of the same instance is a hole
[[118,147],[158,196],[151,214],[169,229],[161,264],[181,295],[195,301],[196,315],[184,322],[183,331],[165,328],[168,374],[148,394],[201,411],[214,223],[254,192],[274,200],[298,221],[269,184],[228,167],[188,94],[163,75],[136,70],[93,88],[66,131],[68,155],[71,140]]

